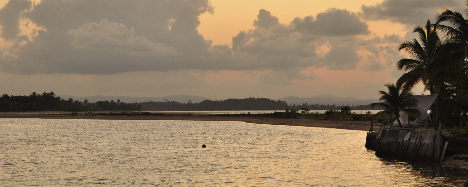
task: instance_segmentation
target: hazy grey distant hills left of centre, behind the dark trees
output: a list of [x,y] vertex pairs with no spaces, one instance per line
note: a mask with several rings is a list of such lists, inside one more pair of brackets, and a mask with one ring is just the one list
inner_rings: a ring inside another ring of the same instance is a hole
[[117,101],[118,99],[122,102],[126,103],[134,103],[134,102],[146,102],[146,101],[176,101],[180,103],[187,103],[192,101],[192,103],[199,103],[201,101],[210,100],[215,101],[206,97],[195,96],[195,95],[168,95],[164,97],[130,97],[130,96],[102,96],[102,95],[95,95],[90,97],[76,97],[73,95],[59,95],[63,99],[72,98],[73,100],[84,101],[88,99],[89,102],[97,102],[97,101],[110,101],[114,100]]

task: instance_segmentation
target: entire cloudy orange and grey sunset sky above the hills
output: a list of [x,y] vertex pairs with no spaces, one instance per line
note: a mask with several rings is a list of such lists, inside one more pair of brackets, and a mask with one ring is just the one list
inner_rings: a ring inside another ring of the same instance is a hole
[[443,7],[463,0],[0,0],[0,93],[378,98]]

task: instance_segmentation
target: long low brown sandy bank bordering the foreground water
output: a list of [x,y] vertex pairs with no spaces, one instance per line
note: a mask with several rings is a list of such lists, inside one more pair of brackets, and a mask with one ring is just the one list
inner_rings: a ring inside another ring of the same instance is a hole
[[163,115],[163,116],[109,116],[109,115],[63,115],[63,114],[21,114],[4,113],[0,118],[42,118],[42,119],[95,119],[95,120],[191,120],[191,121],[235,121],[270,125],[291,125],[303,127],[323,127],[350,130],[369,130],[370,122],[316,120],[316,119],[279,119],[271,117],[223,117],[213,115]]

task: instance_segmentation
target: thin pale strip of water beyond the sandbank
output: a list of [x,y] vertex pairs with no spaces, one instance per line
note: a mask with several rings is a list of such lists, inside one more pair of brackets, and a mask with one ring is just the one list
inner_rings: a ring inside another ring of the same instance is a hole
[[[191,113],[191,114],[268,114],[274,112],[284,112],[285,110],[182,110],[182,111],[174,111],[174,110],[164,110],[164,111],[155,111],[155,110],[148,110],[143,112],[150,112],[150,113]],[[317,114],[325,114],[326,110],[310,110],[310,113],[317,113]],[[352,113],[356,114],[366,114],[366,112],[371,111],[371,114],[377,114],[381,110],[352,110]]]

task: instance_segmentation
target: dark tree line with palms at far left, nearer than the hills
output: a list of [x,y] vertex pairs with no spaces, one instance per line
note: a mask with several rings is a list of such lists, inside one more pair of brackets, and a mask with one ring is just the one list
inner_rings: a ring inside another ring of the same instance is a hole
[[9,96],[3,94],[0,97],[0,111],[100,111],[100,110],[141,110],[141,105],[135,103],[124,103],[116,101],[97,101],[89,103],[73,101],[72,98],[65,100],[55,96],[54,92],[30,95]]

